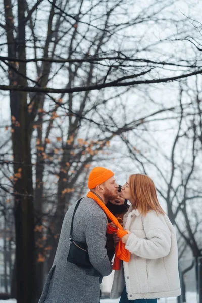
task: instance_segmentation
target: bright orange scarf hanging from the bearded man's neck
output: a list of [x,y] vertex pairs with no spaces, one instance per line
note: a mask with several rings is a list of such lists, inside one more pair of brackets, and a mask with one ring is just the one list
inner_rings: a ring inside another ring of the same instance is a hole
[[[112,222],[117,226],[117,228],[114,228],[109,225],[107,227],[107,233],[114,234],[117,232],[117,235],[119,238],[122,238],[127,234],[127,231],[123,229],[117,218],[108,210],[107,206],[100,200],[100,198],[94,194],[92,191],[89,191],[87,194],[88,198],[91,198],[96,201],[96,203],[103,209],[106,216],[112,220]],[[130,252],[125,248],[125,244],[122,241],[119,241],[119,243],[116,245],[115,248],[115,258],[114,258],[114,264],[113,269],[119,270],[121,268],[121,261],[129,262],[130,260]]]

